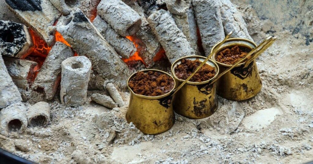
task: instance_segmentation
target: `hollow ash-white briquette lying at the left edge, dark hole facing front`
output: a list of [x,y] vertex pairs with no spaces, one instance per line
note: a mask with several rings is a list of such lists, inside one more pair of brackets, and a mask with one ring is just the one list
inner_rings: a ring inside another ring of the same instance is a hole
[[9,136],[10,132],[22,133],[27,127],[26,107],[17,102],[0,111],[0,134]]

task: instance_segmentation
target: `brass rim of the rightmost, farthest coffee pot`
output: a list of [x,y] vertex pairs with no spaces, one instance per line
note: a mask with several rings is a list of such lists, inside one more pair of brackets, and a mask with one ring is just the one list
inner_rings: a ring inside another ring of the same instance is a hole
[[[215,50],[216,46],[218,44],[220,44],[221,42],[218,42],[216,45],[214,45],[214,47],[211,50],[211,53],[213,52],[213,50]],[[226,49],[226,48],[230,48],[230,47],[234,47],[238,45],[239,47],[249,47],[251,50],[253,50],[257,45],[248,39],[243,39],[243,38],[231,38],[225,41],[225,43],[218,49],[217,53],[215,53],[211,59],[213,61],[215,61],[216,63],[218,63],[219,66],[224,66],[224,67],[231,67],[233,65],[228,65],[228,64],[224,64],[221,62],[218,62],[215,60],[215,56],[216,54],[218,54],[219,52],[221,52],[222,50]],[[238,64],[236,67],[239,67],[241,65],[243,65],[245,62]]]

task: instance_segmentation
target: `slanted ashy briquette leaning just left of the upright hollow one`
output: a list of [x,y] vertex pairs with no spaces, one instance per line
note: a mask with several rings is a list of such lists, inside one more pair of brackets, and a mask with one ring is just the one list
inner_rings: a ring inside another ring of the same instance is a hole
[[53,99],[61,80],[61,63],[72,56],[74,52],[69,46],[61,42],[54,44],[32,85],[33,97]]

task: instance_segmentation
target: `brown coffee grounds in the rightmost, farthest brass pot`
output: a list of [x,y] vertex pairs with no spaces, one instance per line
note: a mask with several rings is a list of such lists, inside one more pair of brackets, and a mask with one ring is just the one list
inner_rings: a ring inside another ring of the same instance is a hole
[[[239,46],[234,46],[231,49],[227,48],[221,51],[217,56],[215,56],[215,60],[228,65],[233,65],[237,61],[239,61],[241,58],[245,57],[247,55],[247,52],[249,50],[241,49]],[[251,56],[248,57],[248,59]]]

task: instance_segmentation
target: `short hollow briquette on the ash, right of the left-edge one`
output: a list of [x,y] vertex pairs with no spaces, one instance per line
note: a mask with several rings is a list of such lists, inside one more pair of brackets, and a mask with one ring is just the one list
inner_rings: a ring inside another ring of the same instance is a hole
[[38,102],[27,111],[28,126],[46,126],[50,120],[50,106],[46,102]]

